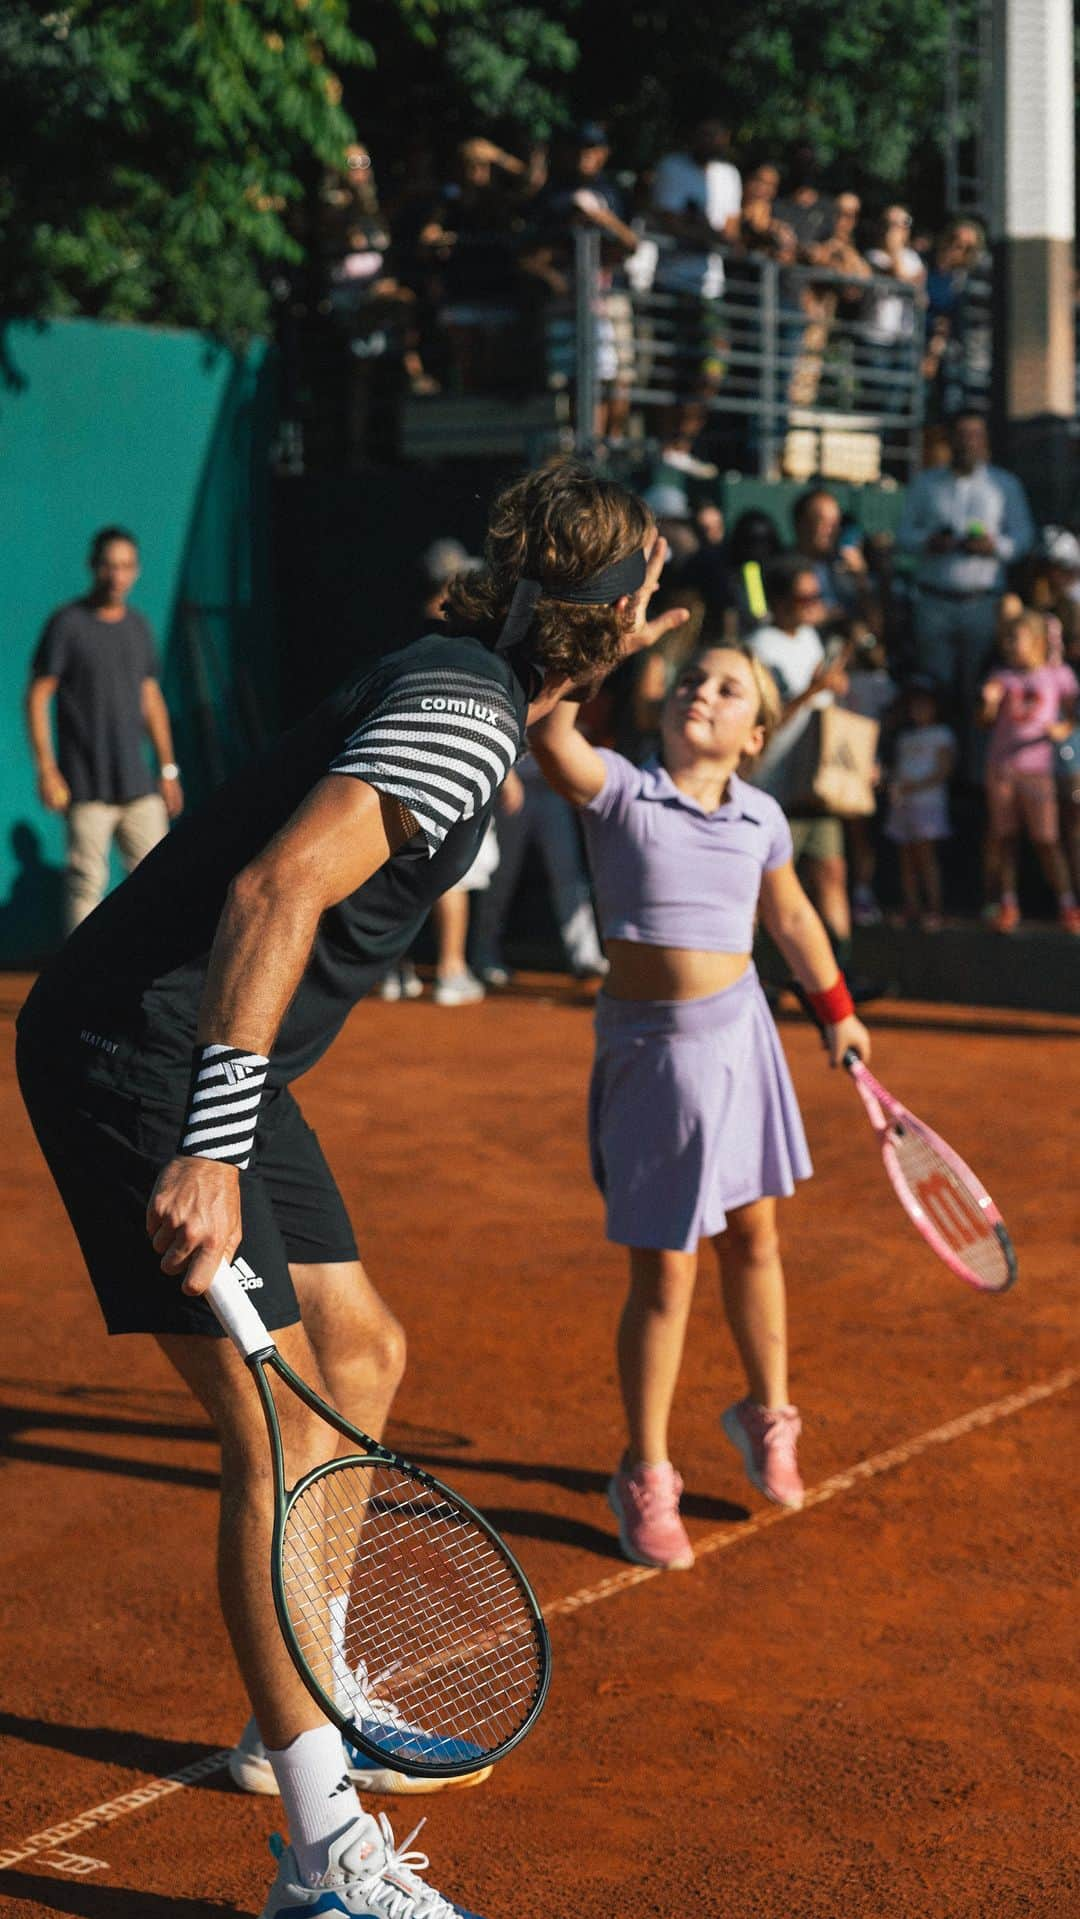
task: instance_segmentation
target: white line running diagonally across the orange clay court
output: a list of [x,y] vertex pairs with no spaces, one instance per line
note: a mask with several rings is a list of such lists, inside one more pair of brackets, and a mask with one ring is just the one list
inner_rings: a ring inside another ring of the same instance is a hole
[[[963,1439],[965,1433],[976,1432],[980,1426],[996,1426],[998,1420],[1007,1420],[1013,1412],[1022,1412],[1026,1407],[1038,1405],[1040,1399],[1053,1399],[1055,1393],[1068,1391],[1080,1380],[1080,1366],[1072,1366],[1067,1372],[1057,1372],[1051,1380],[1042,1380],[1038,1386],[1024,1387],[1022,1393],[1009,1393],[1007,1399],[994,1399],[988,1407],[974,1407],[971,1412],[963,1412],[957,1420],[950,1420],[946,1426],[934,1426],[932,1432],[919,1433],[915,1439],[907,1439],[904,1445],[890,1447],[888,1453],[873,1453],[871,1458],[863,1458],[857,1466],[848,1466],[846,1472],[834,1472],[831,1480],[823,1480],[821,1485],[811,1485],[802,1512],[811,1506],[823,1506],[829,1499],[836,1499],[838,1493],[848,1493],[854,1485],[863,1480],[875,1480],[882,1472],[894,1472],[896,1466],[905,1466],[907,1460],[917,1458],[919,1453],[928,1453],[934,1445],[948,1445],[950,1439]],[[706,1558],[710,1552],[727,1552],[729,1547],[742,1545],[744,1539],[754,1539],[763,1533],[769,1526],[779,1526],[781,1520],[794,1520],[798,1512],[787,1506],[771,1506],[767,1512],[758,1512],[752,1520],[742,1520],[739,1526],[727,1526],[723,1531],[706,1533],[704,1539],[694,1543],[696,1558]],[[602,1599],[614,1599],[618,1593],[625,1593],[629,1587],[643,1585],[646,1579],[664,1577],[658,1566],[627,1566],[625,1572],[614,1574],[610,1579],[600,1579],[597,1585],[581,1587],[577,1593],[568,1593],[566,1599],[554,1599],[543,1608],[547,1620],[566,1618],[572,1612],[581,1612],[583,1606],[595,1606]],[[123,1819],[129,1812],[138,1812],[142,1806],[150,1806],[157,1798],[165,1798],[167,1792],[180,1792],[184,1787],[196,1785],[200,1779],[209,1779],[211,1773],[224,1771],[228,1762],[228,1750],[211,1752],[205,1760],[196,1760],[194,1765],[184,1765],[178,1773],[169,1773],[165,1779],[153,1779],[146,1787],[136,1787],[132,1792],[121,1792],[115,1800],[106,1800],[104,1806],[92,1806],[90,1812],[79,1813],[75,1819],[65,1819],[61,1825],[52,1825],[46,1833],[35,1833],[25,1838],[19,1846],[10,1852],[0,1852],[0,1869],[10,1865],[19,1865],[23,1860],[35,1858],[38,1852],[46,1852],[50,1846],[65,1844],[77,1838],[81,1833],[92,1831],[96,1825],[111,1825],[115,1819]]]

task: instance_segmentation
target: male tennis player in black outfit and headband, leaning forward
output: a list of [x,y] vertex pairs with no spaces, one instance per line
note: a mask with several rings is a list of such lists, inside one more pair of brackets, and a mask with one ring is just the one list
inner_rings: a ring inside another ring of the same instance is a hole
[[[641,501],[583,468],[510,486],[447,631],[349,679],[184,819],[19,1017],[23,1096],[106,1324],[153,1334],[221,1437],[221,1602],[292,1835],[263,1919],[458,1907],[363,1813],[286,1654],[263,1412],[201,1295],[236,1259],[284,1359],[380,1433],[403,1334],[290,1082],[472,864],[526,725],[685,618],[646,620],[664,557]],[[280,1418],[299,1474],[324,1428],[293,1395]]]

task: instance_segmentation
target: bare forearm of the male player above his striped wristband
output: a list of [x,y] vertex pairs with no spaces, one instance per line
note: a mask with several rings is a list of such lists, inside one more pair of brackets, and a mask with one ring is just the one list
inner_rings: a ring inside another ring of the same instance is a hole
[[270,1057],[307,965],[322,900],[247,867],[228,888],[209,956],[198,1038]]

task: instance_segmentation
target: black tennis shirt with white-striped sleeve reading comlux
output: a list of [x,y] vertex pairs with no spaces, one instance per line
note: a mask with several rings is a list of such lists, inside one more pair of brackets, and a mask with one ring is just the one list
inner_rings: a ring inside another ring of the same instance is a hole
[[153,848],[50,961],[19,1025],[98,1082],[182,1102],[228,887],[307,794],[340,773],[399,798],[418,831],[320,919],[269,1080],[305,1073],[472,865],[524,750],[526,706],[506,660],[476,639],[430,635],[387,654]]

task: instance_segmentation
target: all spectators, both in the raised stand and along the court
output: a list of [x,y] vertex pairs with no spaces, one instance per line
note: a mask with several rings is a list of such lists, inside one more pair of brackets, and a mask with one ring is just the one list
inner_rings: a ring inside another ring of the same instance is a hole
[[[577,236],[593,234],[595,451],[610,457],[637,434],[633,478],[669,547],[662,593],[691,620],[614,675],[587,710],[591,737],[646,758],[687,649],[702,635],[739,641],[783,704],[752,777],[790,817],[842,965],[852,923],[882,910],[934,933],[946,913],[980,906],[1007,935],[1021,890],[1038,898],[1038,885],[1042,906],[1049,888],[1061,927],[1080,933],[1080,541],[1036,530],[971,403],[984,397],[988,359],[978,223],[927,234],[898,201],[865,209],[823,184],[806,142],[783,163],[737,163],[719,121],[687,129],[637,178],[610,159],[604,125],[583,121],[520,154],[464,140],[449,175],[418,142],[386,196],[361,142],[322,177],[301,236],[301,307],[345,353],[347,443],[366,455],[386,438],[401,393],[510,395],[537,376],[572,386]],[[767,378],[752,349],[765,269],[781,344]],[[288,328],[282,344],[288,391],[303,384],[290,351],[303,349]],[[844,397],[877,416],[886,453],[890,418],[909,441],[927,422],[896,532],[865,530],[823,480],[794,501],[790,543],[762,507],[727,526],[721,461],[760,464],[762,434],[775,439],[800,409]],[[735,441],[717,424],[725,409]],[[447,581],[474,564],[453,537],[435,541],[418,620],[437,622]],[[132,865],[182,806],[152,635],[129,606],[134,535],[106,528],[90,566],[86,599],[42,635],[27,708],[42,804],[67,823],[69,927],[104,890],[113,837]],[[84,739],[92,764],[77,750]],[[566,963],[602,971],[577,825],[526,762],[478,869],[439,902],[439,1004],[506,983],[529,846]],[[418,990],[411,967],[386,983],[389,998]]]

